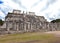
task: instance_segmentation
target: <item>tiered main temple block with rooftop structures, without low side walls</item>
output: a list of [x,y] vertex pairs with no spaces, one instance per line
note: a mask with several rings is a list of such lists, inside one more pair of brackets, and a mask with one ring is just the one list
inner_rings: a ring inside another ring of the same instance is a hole
[[47,22],[43,16],[36,16],[34,12],[21,13],[21,10],[13,10],[5,19],[8,31],[31,31],[40,29],[41,23]]

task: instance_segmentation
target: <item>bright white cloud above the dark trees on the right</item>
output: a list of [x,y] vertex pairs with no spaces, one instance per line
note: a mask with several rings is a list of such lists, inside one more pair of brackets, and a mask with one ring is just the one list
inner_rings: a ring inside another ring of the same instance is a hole
[[[57,0],[54,4],[49,5],[49,7],[44,10],[42,13],[47,13],[49,15],[49,18],[55,18],[57,19],[59,9],[60,9],[60,0]],[[46,14],[45,14],[46,15]],[[47,16],[47,15],[46,15]],[[59,16],[60,17],[60,16]]]

